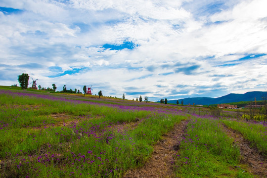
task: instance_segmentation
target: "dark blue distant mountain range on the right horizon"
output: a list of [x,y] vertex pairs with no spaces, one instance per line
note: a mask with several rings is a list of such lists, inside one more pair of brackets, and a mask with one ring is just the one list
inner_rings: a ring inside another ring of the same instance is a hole
[[[183,100],[183,105],[202,104],[202,105],[210,105],[210,104],[221,104],[221,103],[230,103],[230,102],[239,102],[239,101],[254,101],[255,97],[257,101],[262,101],[262,96],[267,96],[267,91],[250,91],[244,94],[235,94],[230,93],[222,97],[211,98],[211,97],[192,97],[192,98],[183,98],[178,99],[179,104],[181,104],[181,100]],[[160,102],[160,101],[157,101]],[[175,103],[176,100],[168,100],[168,103]]]

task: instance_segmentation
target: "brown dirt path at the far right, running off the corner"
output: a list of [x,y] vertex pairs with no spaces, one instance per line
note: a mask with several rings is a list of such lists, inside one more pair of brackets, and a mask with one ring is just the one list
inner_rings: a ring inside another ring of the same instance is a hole
[[233,144],[239,146],[242,156],[240,162],[248,165],[248,171],[259,178],[267,178],[267,158],[257,148],[251,147],[250,142],[242,134],[224,124],[222,124],[222,128],[229,137],[234,139]]

